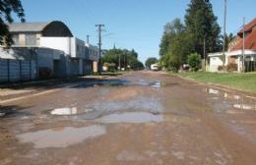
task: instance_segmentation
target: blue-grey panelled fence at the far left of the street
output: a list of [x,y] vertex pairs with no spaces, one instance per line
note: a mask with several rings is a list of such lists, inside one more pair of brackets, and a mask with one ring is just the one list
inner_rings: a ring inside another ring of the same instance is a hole
[[35,77],[34,61],[0,59],[0,83],[31,81]]

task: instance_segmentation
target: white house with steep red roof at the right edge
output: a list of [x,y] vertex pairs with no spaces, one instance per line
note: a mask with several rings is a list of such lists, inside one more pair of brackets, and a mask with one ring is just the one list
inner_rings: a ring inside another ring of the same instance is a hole
[[237,33],[237,36],[229,43],[227,52],[224,54],[223,52],[210,53],[208,55],[210,58],[210,72],[219,72],[220,68],[222,69],[223,55],[225,59],[224,66],[227,69],[232,66],[236,72],[256,71],[256,18]]

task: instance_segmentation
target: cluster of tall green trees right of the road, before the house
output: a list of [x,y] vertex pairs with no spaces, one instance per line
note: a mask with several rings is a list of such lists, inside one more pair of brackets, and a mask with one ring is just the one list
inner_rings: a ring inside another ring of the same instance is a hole
[[[198,63],[198,59],[207,53],[221,51],[223,36],[217,20],[209,0],[191,0],[184,23],[177,18],[163,28],[160,65],[167,70],[178,71],[189,62],[189,55],[193,55],[190,59]],[[225,36],[225,39],[230,40],[231,36]]]

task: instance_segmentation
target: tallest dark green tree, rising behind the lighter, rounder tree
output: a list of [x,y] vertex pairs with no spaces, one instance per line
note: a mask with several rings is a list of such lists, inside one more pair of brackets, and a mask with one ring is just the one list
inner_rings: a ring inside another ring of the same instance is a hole
[[186,10],[185,24],[187,31],[192,34],[193,47],[201,56],[206,52],[221,50],[221,27],[217,23],[210,0],[191,0]]

